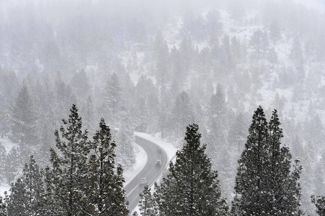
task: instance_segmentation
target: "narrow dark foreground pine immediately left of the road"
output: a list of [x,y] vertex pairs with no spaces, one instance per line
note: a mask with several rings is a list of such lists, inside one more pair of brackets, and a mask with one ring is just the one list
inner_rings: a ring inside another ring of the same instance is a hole
[[99,122],[99,131],[93,136],[94,153],[88,162],[89,173],[86,188],[89,193],[83,197],[83,215],[113,216],[128,215],[128,201],[123,190],[123,169],[117,167],[115,173],[115,147],[111,140],[110,127],[105,119]]

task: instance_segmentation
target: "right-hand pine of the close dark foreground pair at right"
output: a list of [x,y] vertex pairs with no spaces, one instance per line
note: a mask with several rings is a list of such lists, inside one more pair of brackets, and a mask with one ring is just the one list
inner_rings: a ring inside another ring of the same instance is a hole
[[282,128],[277,110],[272,113],[268,123],[267,137],[267,173],[263,176],[266,183],[264,209],[269,215],[303,215],[300,209],[301,187],[297,182],[300,178],[302,166],[296,159],[291,171],[292,155],[287,146],[281,146]]

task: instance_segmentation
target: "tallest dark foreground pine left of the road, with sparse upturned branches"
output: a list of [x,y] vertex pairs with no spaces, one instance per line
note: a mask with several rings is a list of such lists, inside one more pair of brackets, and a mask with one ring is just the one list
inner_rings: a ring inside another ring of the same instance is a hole
[[57,153],[50,149],[52,167],[46,167],[45,182],[48,191],[47,200],[52,203],[49,210],[57,215],[78,215],[81,213],[81,198],[86,194],[83,191],[84,179],[88,172],[87,155],[90,151],[88,131],[82,132],[82,119],[78,115],[75,104],[70,109],[68,121],[62,119],[66,129],[61,126],[61,140],[59,131],[55,131]]

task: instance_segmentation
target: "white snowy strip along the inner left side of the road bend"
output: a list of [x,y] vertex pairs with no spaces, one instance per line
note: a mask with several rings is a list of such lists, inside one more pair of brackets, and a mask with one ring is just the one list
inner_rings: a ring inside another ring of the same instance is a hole
[[143,167],[147,163],[148,156],[145,150],[136,143],[134,143],[134,146],[135,149],[138,149],[136,153],[136,163],[133,165],[131,169],[125,170],[123,172],[123,176],[125,179],[124,186],[127,185],[132,180],[132,178],[136,176],[143,169]]

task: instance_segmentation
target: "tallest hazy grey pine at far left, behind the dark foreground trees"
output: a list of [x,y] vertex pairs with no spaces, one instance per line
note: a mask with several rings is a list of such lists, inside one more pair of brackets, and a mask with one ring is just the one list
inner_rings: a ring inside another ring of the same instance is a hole
[[35,133],[37,117],[33,109],[32,98],[26,86],[23,86],[12,110],[11,133],[9,137],[21,145],[36,145]]

